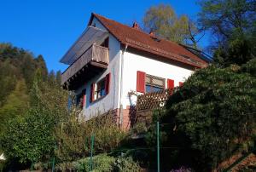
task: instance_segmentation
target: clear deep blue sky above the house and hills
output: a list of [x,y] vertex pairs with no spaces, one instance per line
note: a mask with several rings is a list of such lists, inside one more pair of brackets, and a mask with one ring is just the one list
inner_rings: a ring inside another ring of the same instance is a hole
[[[192,19],[200,11],[195,0],[0,0],[0,43],[42,54],[49,70],[64,71],[59,60],[84,31],[90,13],[102,14],[131,26],[141,22],[152,5],[169,3],[177,14]],[[201,46],[207,45],[207,37]]]

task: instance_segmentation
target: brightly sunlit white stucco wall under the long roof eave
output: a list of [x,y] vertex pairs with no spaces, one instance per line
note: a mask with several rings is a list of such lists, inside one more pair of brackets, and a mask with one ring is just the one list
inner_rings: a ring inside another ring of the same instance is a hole
[[[174,66],[160,60],[125,52],[124,54],[124,72],[123,72],[123,91],[122,105],[125,108],[130,106],[128,92],[137,89],[137,71],[146,72],[155,77],[169,78],[174,80],[174,86],[178,86],[179,82],[184,82],[193,71],[180,66]],[[167,81],[166,81],[167,87]]]

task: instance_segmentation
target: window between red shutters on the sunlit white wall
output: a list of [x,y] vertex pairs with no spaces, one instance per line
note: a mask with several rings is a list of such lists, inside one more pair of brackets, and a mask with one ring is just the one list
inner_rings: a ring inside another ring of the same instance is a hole
[[146,93],[156,92],[165,89],[165,79],[161,77],[146,75],[145,84]]

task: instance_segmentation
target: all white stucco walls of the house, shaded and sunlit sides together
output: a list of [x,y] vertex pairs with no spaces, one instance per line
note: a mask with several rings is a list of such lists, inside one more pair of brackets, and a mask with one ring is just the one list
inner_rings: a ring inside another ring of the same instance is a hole
[[[98,20],[92,20],[92,25],[93,24],[96,24],[96,27],[106,31],[106,28],[102,26]],[[122,58],[123,73],[121,72]],[[178,86],[178,82],[183,82],[193,72],[180,66],[153,60],[127,51],[122,56],[119,41],[110,34],[108,69],[76,90],[76,93],[80,94],[83,89],[86,89],[86,105],[83,109],[84,117],[90,119],[97,114],[108,112],[109,110],[119,108],[120,106],[123,106],[123,108],[130,106],[131,102],[128,92],[131,90],[136,91],[137,89],[137,71],[146,72],[147,74],[156,77],[173,79],[175,86]],[[100,81],[109,72],[111,73],[110,92],[104,98],[90,103],[90,84]],[[121,73],[122,83],[120,82]]]

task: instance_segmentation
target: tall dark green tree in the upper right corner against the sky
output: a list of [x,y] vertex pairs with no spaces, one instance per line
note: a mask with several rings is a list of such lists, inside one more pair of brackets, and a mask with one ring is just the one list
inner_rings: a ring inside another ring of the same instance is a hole
[[201,0],[199,23],[212,32],[214,60],[241,65],[256,55],[255,0]]

